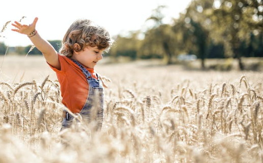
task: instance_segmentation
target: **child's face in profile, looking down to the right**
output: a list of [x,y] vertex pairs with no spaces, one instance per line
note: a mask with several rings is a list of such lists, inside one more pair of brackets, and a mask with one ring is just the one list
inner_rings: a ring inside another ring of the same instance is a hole
[[79,61],[87,68],[94,69],[97,62],[103,58],[102,53],[104,49],[99,50],[97,47],[85,47],[82,51],[75,52],[73,59]]

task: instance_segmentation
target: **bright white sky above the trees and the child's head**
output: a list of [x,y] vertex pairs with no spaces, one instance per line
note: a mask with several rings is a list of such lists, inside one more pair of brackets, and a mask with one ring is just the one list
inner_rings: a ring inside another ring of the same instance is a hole
[[[178,18],[184,12],[191,0],[9,0],[1,3],[0,26],[7,21],[19,21],[30,24],[38,17],[36,29],[43,39],[62,40],[69,26],[76,19],[90,19],[106,28],[111,36],[127,34],[128,31],[143,29],[147,26],[145,20],[159,5],[167,6],[163,10],[164,22],[171,23],[172,18]],[[32,45],[22,34],[11,31],[12,25],[0,33],[0,42],[7,46]],[[1,30],[2,28],[0,28]]]

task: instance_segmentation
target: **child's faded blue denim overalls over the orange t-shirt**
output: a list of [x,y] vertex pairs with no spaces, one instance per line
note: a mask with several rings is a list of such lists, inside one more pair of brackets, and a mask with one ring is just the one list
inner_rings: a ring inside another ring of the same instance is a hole
[[[103,84],[99,80],[99,75],[97,74],[98,79],[95,79],[91,76],[89,71],[87,71],[78,61],[74,61],[77,66],[82,70],[86,76],[86,80],[89,83],[89,94],[87,100],[79,114],[81,115],[84,121],[90,122],[95,120],[97,122],[97,129],[100,129],[103,121]],[[65,129],[70,127],[72,124],[73,116],[66,112],[66,116],[62,121],[62,128]]]

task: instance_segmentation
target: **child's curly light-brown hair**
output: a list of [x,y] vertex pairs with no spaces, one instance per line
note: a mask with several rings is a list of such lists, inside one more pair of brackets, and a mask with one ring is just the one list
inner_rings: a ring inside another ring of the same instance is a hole
[[[99,50],[105,49],[108,52],[112,42],[109,32],[103,27],[94,24],[91,20],[79,19],[73,22],[66,32],[60,53],[71,57],[74,51],[81,51],[86,46],[97,46]],[[75,44],[79,46],[74,46]]]

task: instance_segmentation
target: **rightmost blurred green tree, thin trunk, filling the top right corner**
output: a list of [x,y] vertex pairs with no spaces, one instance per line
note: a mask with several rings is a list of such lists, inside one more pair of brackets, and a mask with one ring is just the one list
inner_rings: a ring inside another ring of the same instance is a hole
[[214,6],[206,10],[212,21],[212,38],[224,44],[225,54],[242,62],[242,42],[249,39],[252,30],[262,30],[262,1],[255,0],[215,0]]

